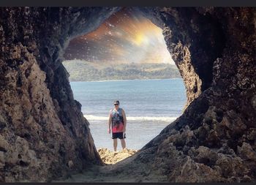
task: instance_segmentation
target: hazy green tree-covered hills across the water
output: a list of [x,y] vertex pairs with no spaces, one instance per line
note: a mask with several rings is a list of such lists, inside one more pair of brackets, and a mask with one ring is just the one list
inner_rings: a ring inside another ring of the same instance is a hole
[[172,64],[100,64],[88,61],[63,61],[69,81],[134,80],[181,78]]

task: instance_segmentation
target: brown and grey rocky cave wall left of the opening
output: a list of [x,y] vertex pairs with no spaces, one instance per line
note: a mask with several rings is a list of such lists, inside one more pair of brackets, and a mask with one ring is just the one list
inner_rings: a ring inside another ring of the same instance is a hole
[[102,163],[61,53],[117,10],[0,8],[0,181],[49,181]]

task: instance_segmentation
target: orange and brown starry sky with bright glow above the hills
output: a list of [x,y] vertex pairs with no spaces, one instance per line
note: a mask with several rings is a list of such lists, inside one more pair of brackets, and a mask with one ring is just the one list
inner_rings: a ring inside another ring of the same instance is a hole
[[97,30],[72,39],[64,58],[115,64],[174,64],[162,29],[128,9],[111,15]]

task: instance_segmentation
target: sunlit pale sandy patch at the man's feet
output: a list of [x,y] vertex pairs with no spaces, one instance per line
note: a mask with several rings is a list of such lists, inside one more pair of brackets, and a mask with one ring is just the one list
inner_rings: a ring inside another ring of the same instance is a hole
[[100,158],[102,159],[105,164],[116,164],[116,162],[119,162],[128,156],[132,156],[135,154],[137,150],[124,148],[124,150],[121,151],[110,151],[108,148],[99,148],[98,153]]

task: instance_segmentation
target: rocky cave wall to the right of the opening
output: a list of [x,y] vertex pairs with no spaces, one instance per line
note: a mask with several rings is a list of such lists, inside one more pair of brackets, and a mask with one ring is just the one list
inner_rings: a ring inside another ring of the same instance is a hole
[[255,181],[256,9],[141,11],[162,26],[188,95],[183,115],[135,156],[152,169],[143,181]]

